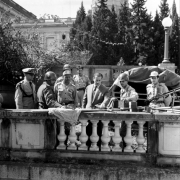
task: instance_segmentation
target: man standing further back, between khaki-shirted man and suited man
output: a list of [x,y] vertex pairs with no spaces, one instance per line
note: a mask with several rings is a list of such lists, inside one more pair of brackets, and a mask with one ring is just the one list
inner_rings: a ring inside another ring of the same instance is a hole
[[83,74],[82,66],[77,67],[77,73],[78,73],[77,75],[73,76],[73,80],[77,89],[78,106],[82,107],[82,100],[83,100],[85,89],[88,85],[91,84],[91,82],[89,78]]

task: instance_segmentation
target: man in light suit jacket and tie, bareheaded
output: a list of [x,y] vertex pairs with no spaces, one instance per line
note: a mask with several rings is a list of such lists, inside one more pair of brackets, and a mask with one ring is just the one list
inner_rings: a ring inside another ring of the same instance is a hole
[[101,73],[95,73],[93,80],[94,84],[90,84],[86,87],[83,97],[82,107],[86,109],[105,109],[109,103],[108,89],[101,84],[103,75]]

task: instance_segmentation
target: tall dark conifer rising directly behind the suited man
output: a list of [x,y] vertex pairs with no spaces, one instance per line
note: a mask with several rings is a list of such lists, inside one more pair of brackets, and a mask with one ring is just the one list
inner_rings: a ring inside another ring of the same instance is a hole
[[93,16],[91,31],[91,50],[93,58],[91,64],[116,64],[118,62],[118,47],[115,47],[118,33],[117,16],[112,7],[110,11],[106,4],[107,0],[99,0],[98,8]]

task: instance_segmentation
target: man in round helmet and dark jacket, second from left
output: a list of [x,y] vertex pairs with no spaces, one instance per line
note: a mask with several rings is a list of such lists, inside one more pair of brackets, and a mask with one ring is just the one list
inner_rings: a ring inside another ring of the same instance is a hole
[[44,82],[39,87],[37,92],[39,109],[48,109],[53,107],[62,107],[56,100],[54,93],[54,83],[56,81],[56,74],[52,71],[48,71],[45,74]]

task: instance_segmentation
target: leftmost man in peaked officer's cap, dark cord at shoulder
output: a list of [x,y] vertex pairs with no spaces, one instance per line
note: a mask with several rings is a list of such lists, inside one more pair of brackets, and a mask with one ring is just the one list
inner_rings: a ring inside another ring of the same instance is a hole
[[22,71],[24,74],[24,80],[16,85],[15,91],[16,109],[34,109],[37,102],[35,85],[32,82],[35,69],[25,68]]

